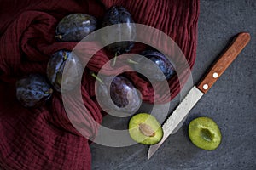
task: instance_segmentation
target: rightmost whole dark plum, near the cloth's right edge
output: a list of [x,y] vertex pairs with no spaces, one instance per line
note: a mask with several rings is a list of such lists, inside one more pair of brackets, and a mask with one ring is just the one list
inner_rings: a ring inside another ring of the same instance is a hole
[[[141,55],[143,57],[137,59],[137,65],[133,66],[139,72],[146,72],[149,80],[159,82],[168,80],[174,75],[174,67],[164,54],[154,50],[146,50]],[[163,74],[156,71],[156,68],[159,68]]]

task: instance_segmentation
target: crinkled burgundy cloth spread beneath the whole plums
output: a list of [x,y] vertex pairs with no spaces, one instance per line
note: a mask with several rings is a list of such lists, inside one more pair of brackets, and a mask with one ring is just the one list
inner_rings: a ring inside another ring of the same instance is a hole
[[[45,75],[51,54],[75,47],[75,42],[55,42],[55,26],[63,16],[85,13],[100,20],[107,8],[122,5],[137,23],[153,26],[172,37],[191,68],[195,62],[199,0],[0,0],[0,4],[1,169],[90,169],[89,140],[68,121],[61,94],[55,93],[49,103],[37,109],[24,108],[15,99],[17,78],[32,72]],[[90,48],[86,51],[90,52]],[[144,48],[137,44],[132,52]],[[107,54],[101,50],[94,55],[87,70],[99,71],[111,58]],[[127,77],[141,90],[144,101],[154,102],[154,91],[148,82],[134,73]],[[186,71],[183,77],[185,82]],[[85,71],[81,91],[88,113],[81,122],[88,127],[84,133],[90,137],[96,133],[93,120],[102,122],[94,82]],[[172,98],[180,91],[179,83],[177,76],[169,81]],[[161,102],[172,99],[156,97]],[[77,105],[75,101],[70,103]]]

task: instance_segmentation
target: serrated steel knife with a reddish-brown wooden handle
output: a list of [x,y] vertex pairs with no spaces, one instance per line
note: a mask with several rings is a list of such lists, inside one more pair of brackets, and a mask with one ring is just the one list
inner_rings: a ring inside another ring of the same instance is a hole
[[212,85],[218,80],[218,78],[224,73],[229,65],[240,54],[241,50],[246,47],[250,41],[250,34],[247,32],[241,32],[234,37],[230,42],[230,46],[221,54],[218,60],[210,67],[207,74],[201,79],[201,81],[189,90],[189,93],[177,106],[176,110],[172,112],[172,115],[168,117],[162,128],[164,131],[163,138],[158,144],[150,145],[148,150],[148,160],[154,155],[168,138],[168,136],[175,130],[175,128],[183,121],[183,119],[189,114],[189,111],[194,105],[201,99],[201,97],[212,88]]

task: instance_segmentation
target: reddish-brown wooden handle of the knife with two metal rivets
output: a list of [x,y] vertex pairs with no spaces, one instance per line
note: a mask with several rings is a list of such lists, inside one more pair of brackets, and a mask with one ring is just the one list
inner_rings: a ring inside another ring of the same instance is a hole
[[206,94],[207,91],[212,88],[214,82],[218,80],[233,60],[236,59],[237,55],[240,54],[241,50],[246,47],[249,41],[249,33],[239,33],[230,43],[230,46],[224,51],[224,54],[221,54],[210,70],[207,71],[207,75],[199,82],[197,88],[199,88],[202,93]]

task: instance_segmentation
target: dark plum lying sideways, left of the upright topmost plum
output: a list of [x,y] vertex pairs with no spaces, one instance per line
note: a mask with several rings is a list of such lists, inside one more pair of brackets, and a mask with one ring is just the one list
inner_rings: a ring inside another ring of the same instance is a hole
[[56,38],[61,42],[79,42],[96,30],[97,20],[89,14],[69,14],[56,27]]

